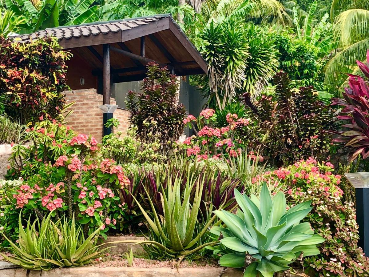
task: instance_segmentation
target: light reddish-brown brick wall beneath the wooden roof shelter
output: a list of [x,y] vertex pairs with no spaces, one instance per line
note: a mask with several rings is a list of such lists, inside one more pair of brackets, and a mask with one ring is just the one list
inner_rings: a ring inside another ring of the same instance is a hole
[[[73,113],[66,119],[69,126],[73,127],[77,133],[90,134],[98,141],[101,141],[103,135],[103,113],[99,105],[103,105],[103,96],[96,93],[96,89],[78,89],[65,91],[67,103],[75,101],[70,108]],[[110,100],[111,105],[115,105],[114,98]],[[128,128],[129,112],[123,109],[117,109],[114,112],[114,118],[119,119],[120,126],[118,130],[125,133]]]

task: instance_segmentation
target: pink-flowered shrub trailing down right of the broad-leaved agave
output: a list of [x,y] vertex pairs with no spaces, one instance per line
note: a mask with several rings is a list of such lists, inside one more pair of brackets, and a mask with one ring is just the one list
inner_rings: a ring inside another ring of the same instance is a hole
[[312,201],[313,209],[303,220],[315,234],[325,238],[320,254],[304,260],[306,272],[314,276],[368,276],[369,263],[358,247],[358,224],[353,202],[343,202],[341,176],[333,174],[329,162],[310,158],[268,172],[261,179],[283,185],[287,201],[294,205]]

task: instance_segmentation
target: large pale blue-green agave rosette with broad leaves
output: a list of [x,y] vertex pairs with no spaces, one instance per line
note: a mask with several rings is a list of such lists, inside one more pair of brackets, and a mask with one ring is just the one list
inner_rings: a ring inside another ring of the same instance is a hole
[[275,272],[288,270],[288,264],[300,255],[319,254],[316,244],[324,242],[314,235],[310,223],[300,221],[311,211],[311,201],[297,204],[286,211],[286,198],[278,192],[272,199],[263,184],[260,200],[235,191],[241,209],[237,214],[224,210],[214,213],[227,227],[213,226],[220,245],[210,247],[222,254],[221,266],[245,268],[244,276],[272,277]]

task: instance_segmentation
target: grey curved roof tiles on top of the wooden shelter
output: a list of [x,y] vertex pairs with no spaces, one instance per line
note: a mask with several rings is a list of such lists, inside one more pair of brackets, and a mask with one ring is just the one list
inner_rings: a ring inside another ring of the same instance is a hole
[[106,22],[94,22],[81,25],[61,26],[57,28],[48,28],[32,34],[25,34],[14,36],[13,38],[20,38],[21,42],[26,42],[30,39],[34,40],[45,35],[53,36],[62,40],[63,38],[78,38],[81,36],[88,37],[89,35],[97,35],[100,33],[117,33],[118,31],[130,30],[132,28],[146,25],[163,18],[171,17],[170,14],[159,14],[156,16],[127,18],[123,20],[112,20]]

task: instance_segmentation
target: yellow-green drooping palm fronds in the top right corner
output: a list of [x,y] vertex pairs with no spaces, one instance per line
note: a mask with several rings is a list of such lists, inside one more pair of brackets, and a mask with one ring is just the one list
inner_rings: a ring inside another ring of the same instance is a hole
[[359,75],[356,60],[369,49],[369,0],[333,0],[330,12],[338,51],[325,69],[325,82],[344,86],[346,73]]

